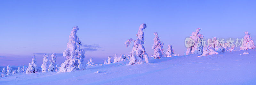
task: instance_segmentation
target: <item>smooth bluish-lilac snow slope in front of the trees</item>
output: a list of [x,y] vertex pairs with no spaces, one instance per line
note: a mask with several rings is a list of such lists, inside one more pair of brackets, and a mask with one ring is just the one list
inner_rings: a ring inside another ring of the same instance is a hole
[[[249,54],[240,55],[244,52]],[[149,63],[129,66],[126,60],[65,73],[21,73],[0,78],[0,84],[256,84],[255,49],[197,56],[150,58]]]

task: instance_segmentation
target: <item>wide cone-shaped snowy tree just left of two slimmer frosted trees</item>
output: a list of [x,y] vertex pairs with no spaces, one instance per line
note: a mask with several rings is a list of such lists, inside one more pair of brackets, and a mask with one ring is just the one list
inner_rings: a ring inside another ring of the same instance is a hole
[[[23,66],[24,69],[26,69],[24,66]],[[36,58],[35,58],[35,55],[32,57],[32,61],[31,63],[29,63],[28,65],[28,69],[26,70],[26,74],[29,74],[29,73],[36,73],[38,72],[38,68],[37,68],[37,64],[36,64]]]

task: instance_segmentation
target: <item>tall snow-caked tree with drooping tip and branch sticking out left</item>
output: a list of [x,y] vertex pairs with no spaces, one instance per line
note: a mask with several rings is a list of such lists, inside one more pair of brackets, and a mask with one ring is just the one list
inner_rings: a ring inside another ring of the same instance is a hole
[[131,44],[132,41],[134,41],[134,44],[132,45],[132,52],[130,53],[130,62],[128,65],[133,64],[140,64],[143,63],[143,59],[145,59],[146,63],[148,63],[148,54],[145,51],[145,48],[143,46],[144,44],[144,32],[143,30],[147,27],[146,24],[141,24],[140,28],[136,34],[137,39],[128,39],[125,41],[126,47]]

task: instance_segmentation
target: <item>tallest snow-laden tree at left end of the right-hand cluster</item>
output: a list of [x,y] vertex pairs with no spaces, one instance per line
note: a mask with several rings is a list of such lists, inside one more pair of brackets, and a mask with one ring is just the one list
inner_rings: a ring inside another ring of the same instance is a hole
[[188,45],[188,49],[186,52],[186,55],[188,54],[193,54],[193,53],[198,53],[198,54],[203,54],[203,45],[200,41],[200,39],[203,39],[204,36],[202,34],[200,34],[200,28],[196,29],[196,32],[192,32],[192,36],[190,36],[190,40],[191,42],[194,43],[190,43],[190,45]]

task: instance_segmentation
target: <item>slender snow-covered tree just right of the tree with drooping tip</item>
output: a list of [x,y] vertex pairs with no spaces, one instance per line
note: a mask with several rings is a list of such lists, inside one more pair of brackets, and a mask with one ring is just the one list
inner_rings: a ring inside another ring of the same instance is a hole
[[154,49],[154,54],[152,55],[154,59],[161,59],[164,57],[164,43],[161,43],[161,40],[158,37],[157,32],[154,32],[154,44],[152,49]]

